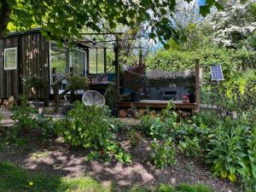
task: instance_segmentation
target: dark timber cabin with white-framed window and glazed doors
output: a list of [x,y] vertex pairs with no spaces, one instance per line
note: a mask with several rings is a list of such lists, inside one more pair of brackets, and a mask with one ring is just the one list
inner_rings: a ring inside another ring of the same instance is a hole
[[[38,91],[38,98],[45,100],[53,94],[50,85],[71,67],[75,73],[84,75],[106,72],[106,47],[102,44],[84,38],[73,49],[66,44],[60,48],[44,38],[40,30],[11,32],[0,39],[0,98],[26,94],[33,99],[31,90],[22,83],[27,77],[41,77],[47,84]],[[60,91],[66,85],[67,80],[63,79]]]

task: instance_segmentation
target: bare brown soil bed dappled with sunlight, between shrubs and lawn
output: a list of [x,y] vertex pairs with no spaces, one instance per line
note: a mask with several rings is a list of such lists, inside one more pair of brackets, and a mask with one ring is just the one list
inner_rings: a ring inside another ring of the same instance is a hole
[[114,183],[117,189],[133,185],[157,185],[159,183],[204,183],[221,192],[238,192],[239,187],[227,180],[214,178],[209,167],[201,159],[189,159],[177,154],[177,164],[157,169],[150,161],[150,141],[143,138],[137,147],[131,147],[125,133],[117,140],[131,153],[132,163],[123,165],[117,161],[102,164],[86,161],[86,150],[74,150],[61,137],[39,142],[36,136],[27,137],[23,147],[6,147],[0,150],[0,161],[6,160],[32,172],[44,172],[61,177],[94,177],[104,185]]

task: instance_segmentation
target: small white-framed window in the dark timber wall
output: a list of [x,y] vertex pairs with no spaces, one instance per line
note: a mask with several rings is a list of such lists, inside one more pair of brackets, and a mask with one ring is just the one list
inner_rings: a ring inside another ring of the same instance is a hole
[[4,49],[4,70],[17,69],[17,48]]

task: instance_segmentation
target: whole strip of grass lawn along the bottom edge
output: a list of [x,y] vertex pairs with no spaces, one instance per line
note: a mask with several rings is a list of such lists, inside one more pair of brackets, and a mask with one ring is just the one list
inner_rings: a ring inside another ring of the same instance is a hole
[[[14,166],[8,162],[0,162],[0,191],[1,192],[24,192],[24,191],[118,191],[114,184],[112,186],[103,186],[92,177],[57,177],[47,176],[40,173],[29,172],[19,166]],[[212,192],[204,185],[180,184],[176,188],[168,185],[160,185],[156,188],[144,188],[134,186],[122,191],[160,191],[160,192]]]

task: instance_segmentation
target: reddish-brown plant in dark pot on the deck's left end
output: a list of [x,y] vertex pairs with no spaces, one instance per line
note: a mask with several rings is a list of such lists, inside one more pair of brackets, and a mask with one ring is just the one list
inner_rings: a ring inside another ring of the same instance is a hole
[[131,101],[139,102],[141,99],[141,89],[143,88],[145,66],[137,64],[134,67],[128,67],[123,75],[123,84],[131,92]]

